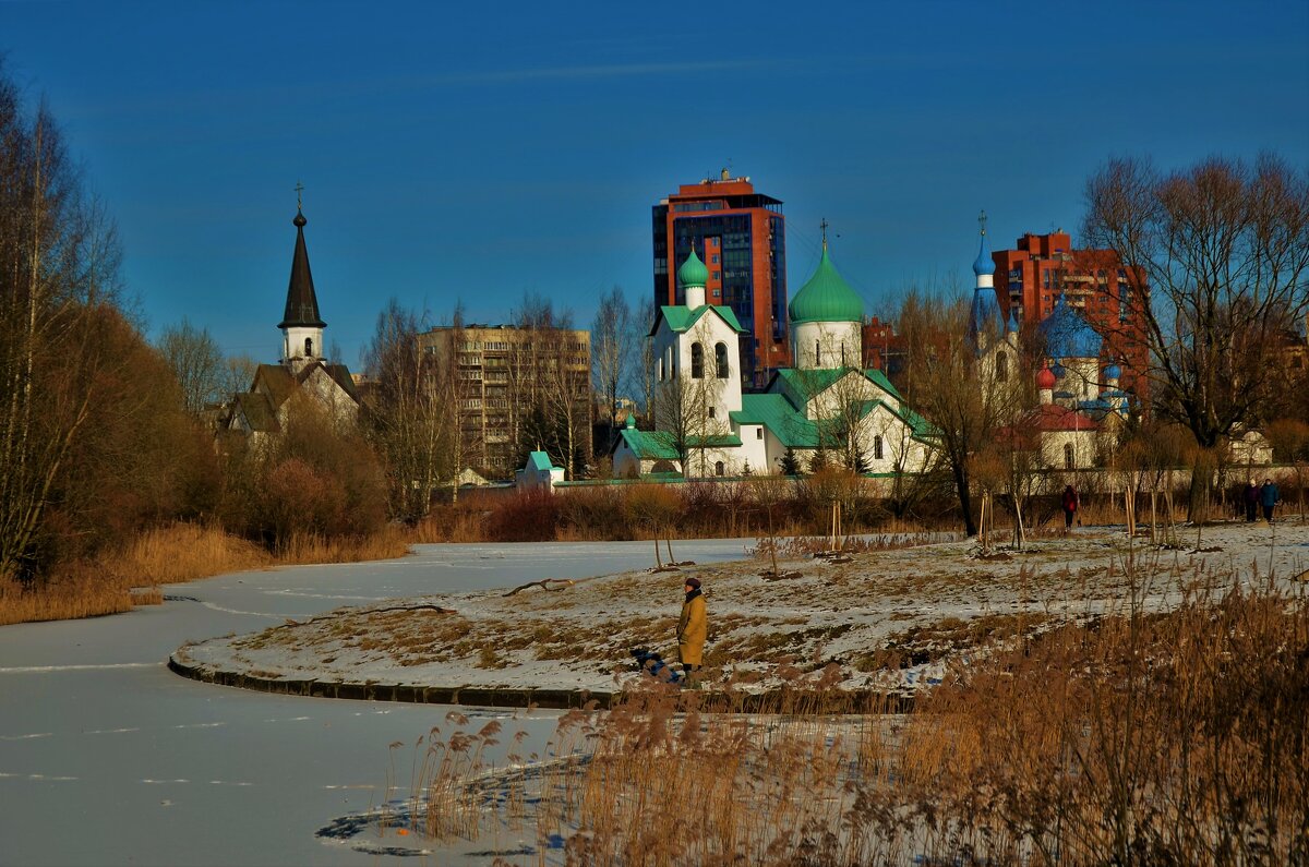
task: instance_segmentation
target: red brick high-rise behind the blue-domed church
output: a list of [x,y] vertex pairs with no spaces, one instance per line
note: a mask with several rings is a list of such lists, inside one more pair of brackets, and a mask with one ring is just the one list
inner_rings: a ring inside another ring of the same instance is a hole
[[[1075,250],[1072,236],[1059,229],[1050,234],[1026,233],[1016,250],[996,250],[995,292],[1005,318],[1013,313],[1026,325],[1042,322],[1064,303],[1083,314],[1105,338],[1102,354],[1123,368],[1122,388],[1141,401],[1147,397],[1143,376],[1149,352],[1145,346],[1144,305],[1149,304],[1144,280],[1128,274],[1113,250]],[[1025,329],[1026,330],[1026,329]]]

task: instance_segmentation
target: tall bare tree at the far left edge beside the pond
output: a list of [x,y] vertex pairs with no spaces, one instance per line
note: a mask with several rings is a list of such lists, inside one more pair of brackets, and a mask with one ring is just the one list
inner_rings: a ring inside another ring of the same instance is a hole
[[0,68],[0,578],[30,574],[51,491],[102,385],[89,320],[117,301],[117,233],[42,103]]

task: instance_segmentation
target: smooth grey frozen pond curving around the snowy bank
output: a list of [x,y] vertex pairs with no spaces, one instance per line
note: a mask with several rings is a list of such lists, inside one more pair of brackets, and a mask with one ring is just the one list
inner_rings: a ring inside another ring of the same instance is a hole
[[[681,542],[700,563],[749,540]],[[0,627],[0,864],[376,864],[314,832],[384,800],[389,744],[446,707],[211,686],[166,668],[186,640],[342,605],[653,564],[652,542],[421,545],[401,561],[300,566],[165,588],[161,606]],[[479,720],[504,711],[473,711]],[[533,735],[554,731],[538,711]],[[507,841],[501,841],[507,842]],[[484,863],[484,862],[480,862]]]

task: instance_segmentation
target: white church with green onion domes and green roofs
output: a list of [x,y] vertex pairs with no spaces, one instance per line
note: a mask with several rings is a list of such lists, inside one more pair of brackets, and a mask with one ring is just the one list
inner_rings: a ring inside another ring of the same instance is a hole
[[683,303],[661,306],[649,331],[654,430],[628,419],[613,451],[617,478],[779,473],[788,451],[806,469],[819,452],[868,473],[925,469],[931,426],[881,371],[861,367],[864,303],[831,263],[826,238],[788,306],[795,367],[759,394],[742,394],[738,342],[749,334],[730,308],[706,303],[708,268],[694,249],[677,276]]

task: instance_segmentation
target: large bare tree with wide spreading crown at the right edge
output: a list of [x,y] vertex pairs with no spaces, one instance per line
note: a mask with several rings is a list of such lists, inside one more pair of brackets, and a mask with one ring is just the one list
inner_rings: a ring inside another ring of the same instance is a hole
[[[1114,158],[1086,182],[1084,233],[1124,266],[1155,410],[1202,449],[1262,423],[1284,335],[1309,303],[1309,178],[1283,160],[1210,157],[1178,172]],[[1124,279],[1126,278],[1126,279]],[[1211,481],[1195,473],[1192,509]]]

